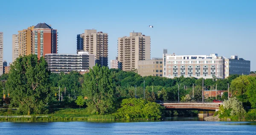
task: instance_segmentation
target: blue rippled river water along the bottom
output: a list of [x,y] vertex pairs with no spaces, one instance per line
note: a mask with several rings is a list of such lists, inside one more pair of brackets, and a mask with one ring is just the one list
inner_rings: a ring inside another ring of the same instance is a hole
[[[0,122],[0,135],[255,135],[255,122]],[[186,120],[186,121],[184,121]],[[187,121],[188,120],[188,121]]]

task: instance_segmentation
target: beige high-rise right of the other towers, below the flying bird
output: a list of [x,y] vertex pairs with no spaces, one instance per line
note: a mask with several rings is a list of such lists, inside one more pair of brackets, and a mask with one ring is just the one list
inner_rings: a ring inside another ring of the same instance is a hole
[[131,32],[130,37],[118,38],[118,61],[122,70],[138,69],[139,60],[150,60],[150,36]]

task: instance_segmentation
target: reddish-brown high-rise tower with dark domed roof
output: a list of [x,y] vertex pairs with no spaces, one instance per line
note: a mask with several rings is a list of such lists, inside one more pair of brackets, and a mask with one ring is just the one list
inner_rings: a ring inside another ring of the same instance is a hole
[[58,53],[58,32],[46,23],[38,23],[33,32],[33,53],[38,58],[45,54]]

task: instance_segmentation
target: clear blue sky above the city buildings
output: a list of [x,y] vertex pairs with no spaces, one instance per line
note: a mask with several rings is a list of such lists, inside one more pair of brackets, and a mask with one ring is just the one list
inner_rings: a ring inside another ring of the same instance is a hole
[[256,71],[256,0],[2,0],[3,59],[12,61],[12,34],[43,22],[58,30],[59,53],[75,54],[76,35],[94,28],[108,33],[109,60],[115,59],[117,38],[134,31],[151,36],[151,57],[162,57],[164,48],[238,54]]

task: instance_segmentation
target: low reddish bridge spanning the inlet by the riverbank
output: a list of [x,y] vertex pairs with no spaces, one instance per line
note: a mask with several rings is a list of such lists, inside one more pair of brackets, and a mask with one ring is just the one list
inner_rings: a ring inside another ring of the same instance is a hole
[[223,103],[160,103],[166,109],[218,110]]

